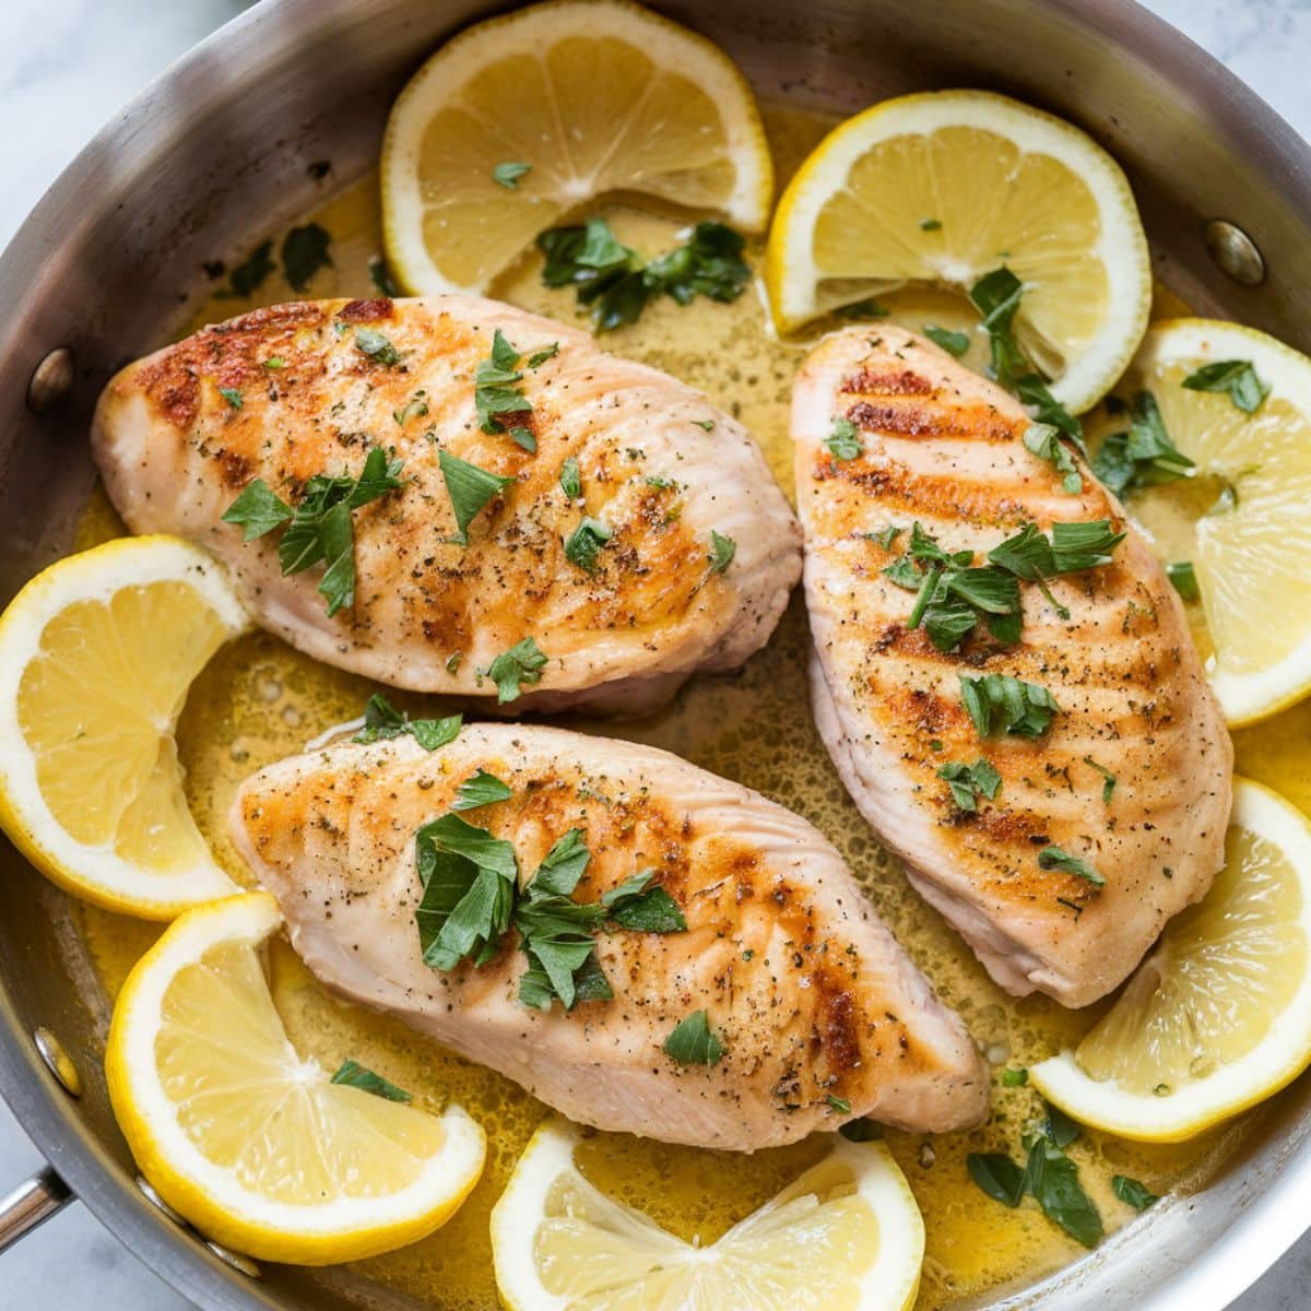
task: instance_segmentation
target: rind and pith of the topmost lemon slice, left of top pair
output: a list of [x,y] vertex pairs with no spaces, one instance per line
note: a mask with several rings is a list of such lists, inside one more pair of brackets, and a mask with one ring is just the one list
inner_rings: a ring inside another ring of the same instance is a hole
[[[577,14],[577,20],[573,16]],[[742,71],[708,37],[684,28],[631,0],[547,0],[458,33],[442,45],[410,77],[392,105],[383,135],[379,184],[382,187],[383,244],[388,264],[410,295],[468,292],[482,295],[499,273],[523,253],[507,252],[505,265],[484,282],[464,286],[446,277],[433,262],[422,239],[422,199],[413,180],[420,140],[433,111],[448,100],[442,75],[456,60],[465,60],[461,85],[489,63],[515,51],[535,52],[558,38],[570,21],[591,35],[676,41],[682,50],[679,71],[695,76],[707,94],[722,106],[735,104],[734,115],[722,121],[729,136],[728,153],[738,169],[737,187],[722,208],[724,218],[747,232],[762,232],[770,222],[773,198],[773,161],[755,93]],[[641,30],[635,30],[635,25]],[[569,29],[574,30],[574,29]],[[485,41],[484,38],[493,39]],[[479,49],[481,45],[481,50]],[[635,189],[636,191],[637,189]],[[570,197],[570,210],[599,197]]]

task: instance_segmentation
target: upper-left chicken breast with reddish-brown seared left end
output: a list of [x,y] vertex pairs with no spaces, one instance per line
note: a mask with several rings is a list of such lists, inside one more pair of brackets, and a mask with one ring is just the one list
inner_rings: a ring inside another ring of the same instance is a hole
[[[244,544],[223,515],[256,480],[312,501],[311,480],[358,477],[374,447],[401,486],[346,511],[354,600],[329,615],[321,566],[283,574],[282,524]],[[577,329],[472,296],[206,328],[110,382],[92,450],[134,532],[207,547],[256,619],[316,659],[494,696],[493,661],[532,638],[545,659],[511,662],[517,709],[650,709],[760,648],[801,573],[800,530],[741,423]],[[443,469],[451,456],[476,469]],[[475,511],[467,545],[456,501]]]

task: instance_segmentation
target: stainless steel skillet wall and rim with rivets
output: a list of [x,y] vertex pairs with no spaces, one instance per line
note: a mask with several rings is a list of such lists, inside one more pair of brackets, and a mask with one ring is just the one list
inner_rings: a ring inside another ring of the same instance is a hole
[[[307,165],[330,159],[338,178],[363,170],[405,76],[493,8],[265,0],[170,69],[64,173],[0,257],[0,602],[67,549],[92,481],[90,405],[109,371],[169,332],[205,260],[240,252],[312,203]],[[902,90],[977,85],[1072,118],[1130,170],[1175,290],[1311,349],[1311,149],[1127,0],[658,8],[720,41],[766,98],[850,111]],[[273,1268],[253,1280],[157,1211],[134,1185],[109,1112],[106,1019],[63,895],[4,844],[0,1091],[51,1171],[0,1218],[0,1242],[71,1188],[202,1307],[410,1304],[334,1272]],[[38,1028],[72,1058],[80,1097],[47,1070]],[[1308,1133],[1303,1079],[1252,1122],[1203,1193],[1155,1209],[1078,1266],[996,1304],[1218,1311],[1311,1227]]]

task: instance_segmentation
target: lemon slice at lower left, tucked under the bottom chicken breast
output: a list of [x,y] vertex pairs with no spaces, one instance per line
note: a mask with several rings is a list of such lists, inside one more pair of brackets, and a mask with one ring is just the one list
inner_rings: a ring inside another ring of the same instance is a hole
[[267,893],[178,916],[132,969],[105,1053],[109,1096],[142,1173],[202,1234],[299,1265],[430,1234],[482,1173],[482,1130],[334,1084],[296,1055],[260,945]]

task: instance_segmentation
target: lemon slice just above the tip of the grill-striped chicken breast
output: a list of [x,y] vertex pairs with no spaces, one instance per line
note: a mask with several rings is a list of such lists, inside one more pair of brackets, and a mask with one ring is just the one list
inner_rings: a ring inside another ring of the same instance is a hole
[[[960,292],[1006,265],[1016,333],[1088,409],[1142,340],[1151,266],[1120,165],[1070,123],[1004,96],[902,96],[848,119],[792,180],[770,231],[780,329],[901,287]],[[918,326],[918,325],[916,325]]]

